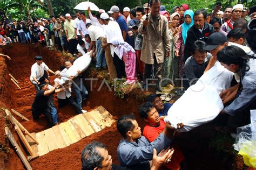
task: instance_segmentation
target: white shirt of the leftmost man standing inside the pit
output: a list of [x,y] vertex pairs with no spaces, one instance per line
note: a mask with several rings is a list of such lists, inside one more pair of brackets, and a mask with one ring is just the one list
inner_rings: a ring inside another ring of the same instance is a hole
[[40,77],[44,75],[44,70],[49,70],[49,67],[46,66],[44,62],[40,66],[37,63],[34,63],[31,67],[30,81],[36,84],[33,77],[36,77],[36,79],[39,80]]

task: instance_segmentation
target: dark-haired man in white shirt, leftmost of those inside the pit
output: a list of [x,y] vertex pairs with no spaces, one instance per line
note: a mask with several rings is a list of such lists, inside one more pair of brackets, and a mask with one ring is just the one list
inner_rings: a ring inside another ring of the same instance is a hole
[[[38,80],[40,77],[43,77],[45,74],[48,79],[50,78],[49,72],[55,74],[48,66],[43,62],[43,56],[36,55],[35,56],[36,63],[34,63],[31,67],[31,75],[30,81],[35,86],[36,90],[39,90],[38,84],[40,83]],[[45,71],[45,72],[44,72]]]

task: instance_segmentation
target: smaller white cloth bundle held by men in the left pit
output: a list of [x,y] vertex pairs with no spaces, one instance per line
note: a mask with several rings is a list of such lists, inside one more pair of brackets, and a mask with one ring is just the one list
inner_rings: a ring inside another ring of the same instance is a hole
[[87,52],[85,55],[80,56],[76,61],[73,63],[73,65],[69,69],[64,69],[62,72],[60,72],[60,76],[69,78],[70,76],[78,76],[77,71],[80,70],[81,72],[84,72],[86,70],[90,63],[91,63],[91,54],[92,51]]

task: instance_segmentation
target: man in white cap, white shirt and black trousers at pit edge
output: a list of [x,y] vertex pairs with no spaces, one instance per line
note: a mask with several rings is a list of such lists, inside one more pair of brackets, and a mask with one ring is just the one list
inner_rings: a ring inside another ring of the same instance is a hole
[[124,40],[122,31],[119,24],[117,22],[111,21],[109,15],[107,15],[106,12],[100,15],[100,19],[102,19],[104,25],[107,25],[104,30],[107,37],[107,44],[102,45],[102,47],[103,49],[105,49],[107,46],[110,46],[111,55],[113,56],[114,67],[116,67],[117,71],[117,77],[118,79],[121,79],[122,76],[125,75],[124,62],[118,58],[118,55],[116,53],[114,53],[115,47],[111,44],[110,40],[114,37],[118,37],[117,39]]

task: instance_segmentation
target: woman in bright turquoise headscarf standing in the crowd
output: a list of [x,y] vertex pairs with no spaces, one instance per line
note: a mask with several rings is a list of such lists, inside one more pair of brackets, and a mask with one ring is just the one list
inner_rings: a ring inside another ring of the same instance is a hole
[[185,22],[179,26],[179,39],[177,42],[177,46],[175,47],[175,55],[179,57],[179,78],[183,75],[184,71],[184,47],[186,44],[187,31],[194,24],[193,17],[194,12],[192,10],[186,10],[186,12],[184,13]]

